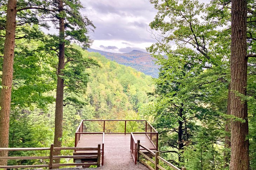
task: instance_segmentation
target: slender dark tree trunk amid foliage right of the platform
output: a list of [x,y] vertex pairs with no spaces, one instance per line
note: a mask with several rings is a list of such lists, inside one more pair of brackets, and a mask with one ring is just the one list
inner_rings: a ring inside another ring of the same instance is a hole
[[[183,106],[183,104],[182,104]],[[184,144],[183,144],[183,141],[182,141],[182,135],[183,135],[183,131],[182,131],[182,127],[183,127],[183,117],[182,117],[182,113],[183,113],[183,108],[180,108],[179,110],[179,118],[180,120],[178,120],[178,151],[179,151],[179,154],[178,154],[178,163],[180,164],[181,162],[184,162],[184,160],[182,159],[182,152],[183,152],[183,147],[184,147]]]

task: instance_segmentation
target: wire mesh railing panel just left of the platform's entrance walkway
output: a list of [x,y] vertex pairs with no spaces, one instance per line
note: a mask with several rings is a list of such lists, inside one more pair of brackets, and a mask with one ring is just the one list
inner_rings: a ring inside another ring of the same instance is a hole
[[[76,134],[79,135],[79,142],[76,144],[76,147],[97,147],[98,144],[101,144],[102,149],[102,138],[103,133],[95,134],[95,133],[84,133],[84,134]],[[76,137],[78,138],[78,137]]]

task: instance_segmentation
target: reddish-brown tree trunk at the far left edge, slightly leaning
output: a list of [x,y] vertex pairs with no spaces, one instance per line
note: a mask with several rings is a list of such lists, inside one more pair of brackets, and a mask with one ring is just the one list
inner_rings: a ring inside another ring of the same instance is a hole
[[[9,121],[11,111],[11,94],[13,79],[13,59],[16,29],[16,0],[8,0],[6,14],[5,49],[2,70],[2,86],[0,94],[0,148],[8,148]],[[7,151],[0,151],[0,156],[8,156]],[[0,165],[6,165],[6,160],[0,160]]]

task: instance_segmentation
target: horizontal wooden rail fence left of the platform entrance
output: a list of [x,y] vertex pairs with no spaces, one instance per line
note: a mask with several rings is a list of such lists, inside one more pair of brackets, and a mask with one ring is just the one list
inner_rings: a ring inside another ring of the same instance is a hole
[[[38,159],[49,159],[49,164],[42,164],[42,165],[8,165],[2,166],[0,168],[9,169],[9,168],[42,168],[42,167],[49,167],[52,169],[53,167],[66,167],[66,166],[88,166],[88,165],[97,165],[100,167],[100,157],[101,157],[101,149],[100,144],[97,148],[84,148],[84,147],[54,147],[52,144],[50,148],[0,148],[0,150],[8,150],[8,151],[21,151],[21,150],[50,150],[49,156],[0,156],[0,160],[38,160]],[[97,155],[79,155],[79,156],[53,156],[54,150],[97,150]],[[60,164],[53,164],[53,159],[56,158],[75,158],[75,159],[84,159],[84,158],[97,158],[97,162],[92,163],[60,163]]]

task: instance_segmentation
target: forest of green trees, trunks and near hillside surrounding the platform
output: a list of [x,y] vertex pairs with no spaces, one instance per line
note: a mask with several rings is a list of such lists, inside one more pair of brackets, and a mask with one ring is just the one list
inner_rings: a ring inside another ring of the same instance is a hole
[[97,28],[79,0],[0,0],[0,148],[73,147],[82,119],[144,119],[178,167],[256,170],[256,2],[148,3],[157,78],[87,51]]

